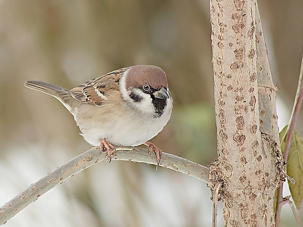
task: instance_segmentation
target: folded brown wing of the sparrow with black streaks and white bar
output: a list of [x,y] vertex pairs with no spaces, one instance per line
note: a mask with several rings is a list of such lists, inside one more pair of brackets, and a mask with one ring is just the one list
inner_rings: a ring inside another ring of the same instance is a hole
[[69,92],[74,99],[82,103],[100,106],[107,100],[109,91],[119,91],[119,80],[128,68],[117,69],[106,75],[82,83]]

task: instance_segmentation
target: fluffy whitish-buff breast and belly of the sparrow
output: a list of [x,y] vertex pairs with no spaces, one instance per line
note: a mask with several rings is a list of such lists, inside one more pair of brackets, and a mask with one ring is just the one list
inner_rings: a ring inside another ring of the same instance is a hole
[[167,124],[172,113],[172,101],[159,118],[143,115],[125,103],[107,103],[97,107],[82,105],[75,108],[75,121],[83,138],[92,145],[100,145],[103,138],[110,144],[137,146],[155,137]]

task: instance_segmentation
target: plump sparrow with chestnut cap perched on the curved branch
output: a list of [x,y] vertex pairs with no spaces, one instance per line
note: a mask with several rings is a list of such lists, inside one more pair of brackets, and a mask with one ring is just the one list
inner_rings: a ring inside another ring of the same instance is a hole
[[156,170],[161,149],[149,142],[168,123],[172,109],[165,72],[154,65],[133,65],[67,90],[41,81],[25,86],[58,99],[74,116],[84,140],[107,152],[111,161],[114,146],[148,146],[156,154]]

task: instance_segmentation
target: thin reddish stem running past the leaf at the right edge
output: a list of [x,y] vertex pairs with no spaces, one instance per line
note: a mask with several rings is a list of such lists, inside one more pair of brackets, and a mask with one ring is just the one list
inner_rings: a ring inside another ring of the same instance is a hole
[[[296,92],[297,102],[294,103],[292,115],[290,117],[290,123],[288,124],[288,131],[287,131],[285,146],[284,146],[284,150],[283,150],[283,158],[284,158],[285,163],[287,163],[288,151],[289,151],[289,147],[291,144],[291,138],[292,138],[293,132],[295,130],[295,124],[297,122],[297,118],[299,116],[299,111],[300,111],[301,104],[303,101],[302,78],[303,78],[303,54],[302,54],[302,62],[301,62],[298,88],[297,88],[297,92]],[[282,182],[281,186],[278,188],[278,198],[277,198],[276,214],[275,214],[276,227],[279,227],[279,224],[280,224],[281,209],[283,206],[283,204],[281,203],[281,201],[283,201],[282,192],[283,192],[283,182]]]

